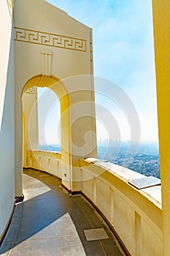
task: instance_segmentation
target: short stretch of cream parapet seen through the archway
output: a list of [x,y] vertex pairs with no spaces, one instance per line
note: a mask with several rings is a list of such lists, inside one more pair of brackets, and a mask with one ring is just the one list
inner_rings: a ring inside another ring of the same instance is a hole
[[61,178],[61,153],[41,150],[29,151],[27,167],[42,170]]

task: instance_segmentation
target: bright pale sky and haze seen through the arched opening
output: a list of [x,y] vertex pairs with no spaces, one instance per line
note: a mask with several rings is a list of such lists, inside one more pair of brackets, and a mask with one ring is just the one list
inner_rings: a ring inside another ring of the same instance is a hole
[[39,150],[61,153],[61,105],[47,87],[37,89]]

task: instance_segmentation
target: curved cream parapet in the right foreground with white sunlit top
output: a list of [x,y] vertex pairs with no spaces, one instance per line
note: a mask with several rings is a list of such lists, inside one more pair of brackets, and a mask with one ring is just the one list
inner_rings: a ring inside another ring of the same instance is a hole
[[80,159],[82,194],[93,203],[129,255],[163,255],[161,185],[136,189],[145,176],[98,159]]

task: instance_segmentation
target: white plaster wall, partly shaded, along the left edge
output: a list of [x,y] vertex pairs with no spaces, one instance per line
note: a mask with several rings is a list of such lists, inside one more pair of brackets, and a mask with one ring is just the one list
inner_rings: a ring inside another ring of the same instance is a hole
[[0,238],[15,200],[14,47],[7,1],[0,1]]

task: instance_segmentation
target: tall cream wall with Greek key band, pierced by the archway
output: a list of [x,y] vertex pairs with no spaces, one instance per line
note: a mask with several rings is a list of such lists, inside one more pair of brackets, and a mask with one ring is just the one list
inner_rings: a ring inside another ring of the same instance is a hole
[[[91,34],[90,28],[46,1],[15,1],[15,151],[18,159],[15,170],[18,195],[22,193],[20,99],[23,88],[47,86],[60,99],[63,120],[61,162],[66,187],[80,190],[77,159],[97,156],[93,79],[90,76],[93,75]],[[62,83],[57,83],[58,80]],[[62,90],[65,90],[65,95],[61,95]]]

